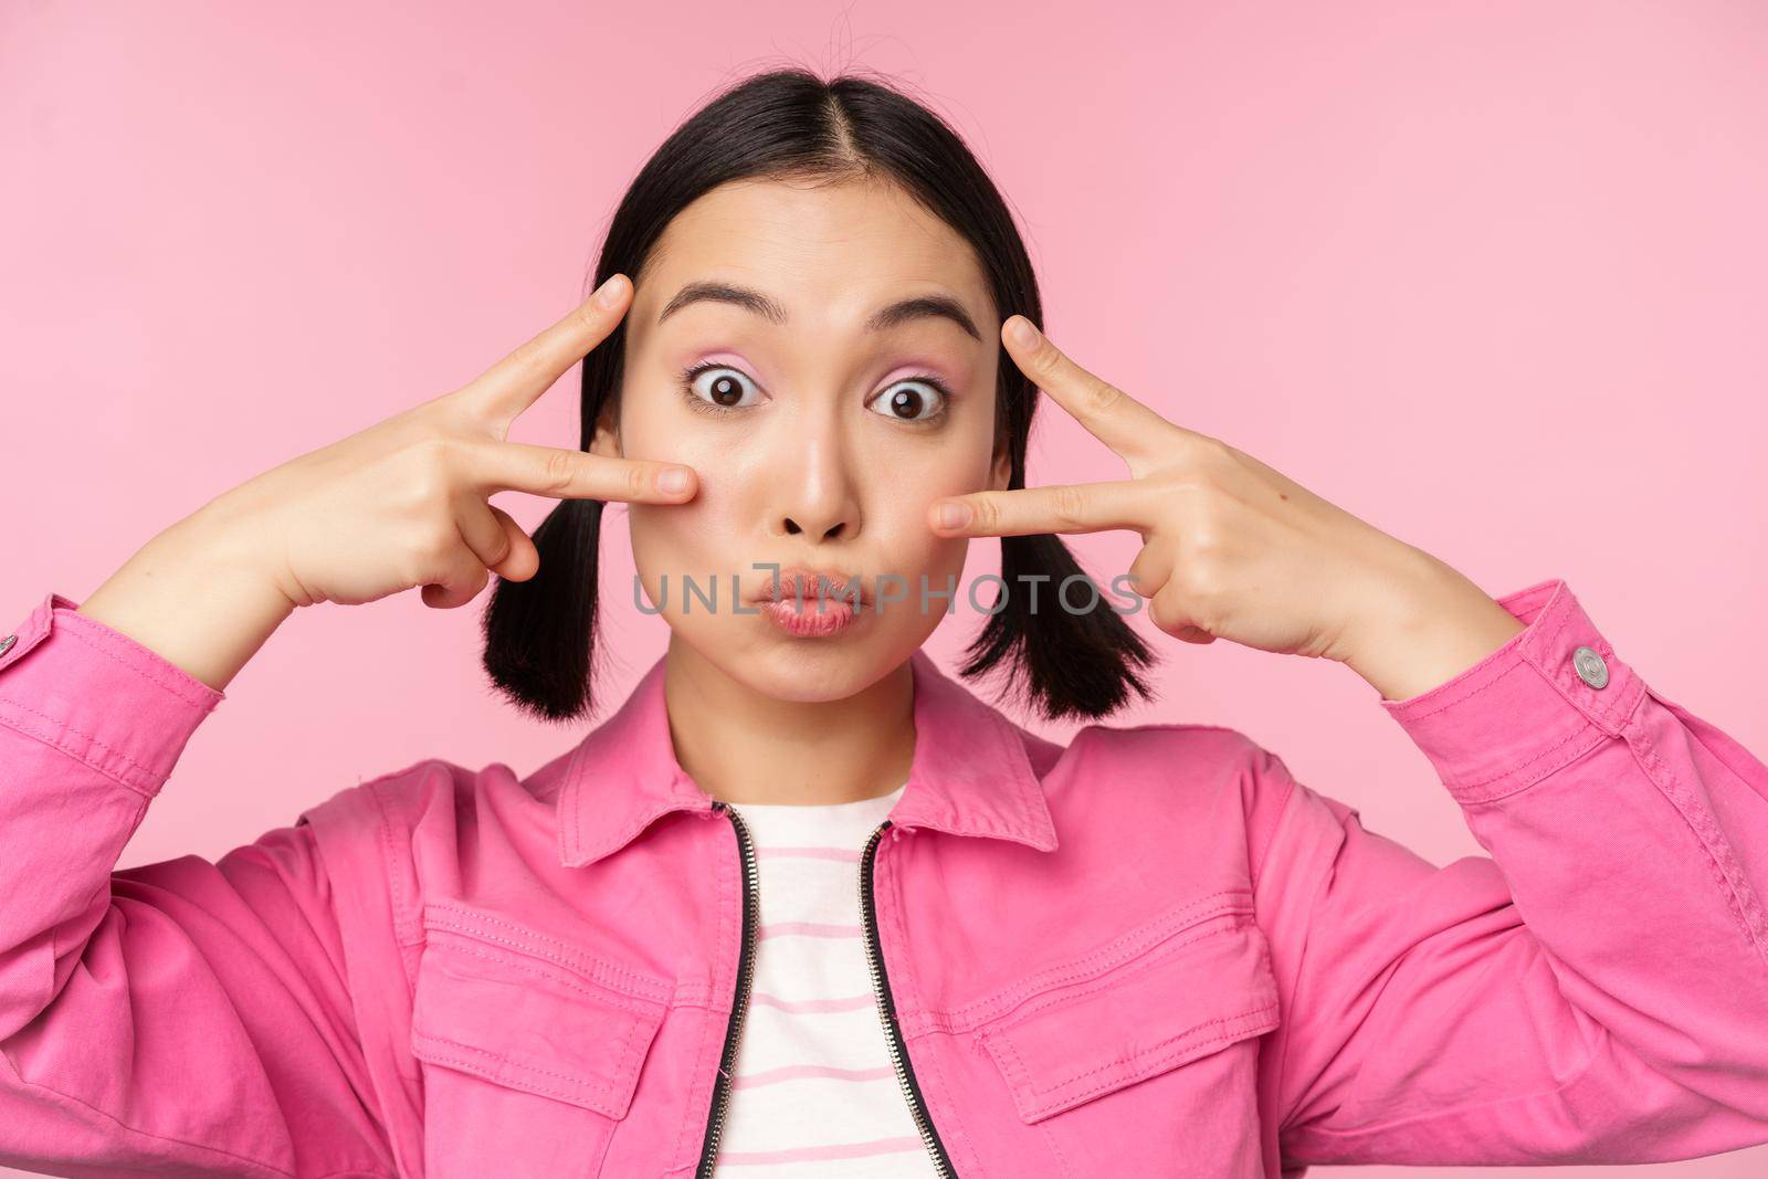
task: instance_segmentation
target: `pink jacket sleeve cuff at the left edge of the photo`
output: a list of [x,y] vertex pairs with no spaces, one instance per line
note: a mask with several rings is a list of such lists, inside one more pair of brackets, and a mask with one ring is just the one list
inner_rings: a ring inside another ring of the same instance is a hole
[[0,635],[0,725],[152,797],[225,691],[46,594]]

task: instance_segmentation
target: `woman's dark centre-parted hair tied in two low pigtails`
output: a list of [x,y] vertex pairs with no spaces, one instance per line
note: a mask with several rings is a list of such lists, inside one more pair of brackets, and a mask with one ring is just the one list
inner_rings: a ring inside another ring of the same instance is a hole
[[[603,242],[594,283],[613,274],[635,283],[675,214],[732,180],[773,179],[840,184],[882,177],[896,182],[971,246],[997,309],[1043,325],[1038,279],[1006,203],[964,140],[939,115],[891,85],[843,74],[822,81],[804,69],[750,76],[682,122],[628,187]],[[1006,318],[1006,313],[1001,315]],[[999,320],[995,323],[999,332]],[[617,412],[624,322],[583,359],[582,449],[596,422]],[[999,334],[997,334],[999,339]],[[1025,486],[1025,440],[1036,385],[1001,352],[995,445],[1011,458],[1008,486]],[[598,548],[601,500],[566,498],[534,532],[539,571],[527,582],[495,578],[484,610],[484,668],[522,711],[543,719],[592,712],[598,638]],[[1001,537],[1006,605],[988,615],[960,668],[978,677],[1006,665],[1006,691],[1029,696],[1047,718],[1100,718],[1135,691],[1149,698],[1137,668],[1151,659],[1142,638],[1103,594],[1071,592],[1048,603],[1080,574],[1059,536]],[[1038,585],[1033,613],[1022,578]],[[1093,601],[1080,612],[1075,599]],[[1029,681],[1029,684],[1027,684]]]

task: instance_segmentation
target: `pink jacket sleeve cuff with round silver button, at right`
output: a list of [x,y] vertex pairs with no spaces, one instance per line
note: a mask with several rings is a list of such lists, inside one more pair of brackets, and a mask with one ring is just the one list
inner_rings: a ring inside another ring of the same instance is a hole
[[1497,605],[1524,629],[1455,679],[1379,702],[1459,802],[1526,790],[1618,735],[1644,696],[1565,580]]

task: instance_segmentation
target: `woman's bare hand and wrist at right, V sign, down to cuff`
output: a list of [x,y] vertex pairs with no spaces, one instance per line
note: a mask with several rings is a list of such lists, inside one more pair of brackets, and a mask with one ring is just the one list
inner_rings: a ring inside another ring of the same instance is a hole
[[[1031,327],[1022,315],[1002,323],[1013,362],[1123,458],[1130,479],[948,497],[928,513],[937,534],[1132,529],[1142,537],[1132,589],[1149,599],[1162,631],[1337,659],[1390,700],[1452,679],[1522,629],[1444,562],[1245,451],[1167,421],[1036,329],[1022,343],[1020,323]],[[969,520],[942,523],[946,506],[967,507]]]

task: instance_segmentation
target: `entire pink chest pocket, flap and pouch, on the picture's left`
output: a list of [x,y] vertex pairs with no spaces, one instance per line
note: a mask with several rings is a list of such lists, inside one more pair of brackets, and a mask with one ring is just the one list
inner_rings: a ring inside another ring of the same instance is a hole
[[431,903],[424,928],[412,1055],[428,1177],[598,1175],[672,985],[502,914]]

